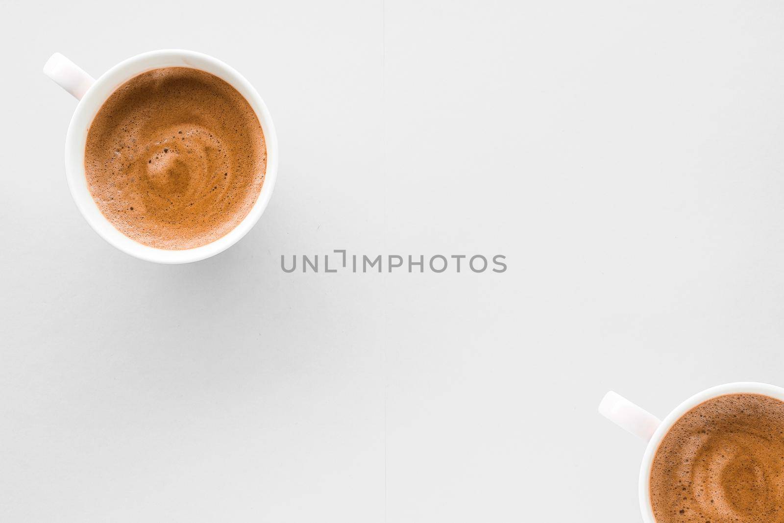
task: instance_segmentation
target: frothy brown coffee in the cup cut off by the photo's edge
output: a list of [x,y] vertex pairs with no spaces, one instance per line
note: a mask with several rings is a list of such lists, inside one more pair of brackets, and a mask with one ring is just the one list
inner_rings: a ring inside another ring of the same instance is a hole
[[728,394],[684,414],[651,471],[657,523],[784,521],[784,402]]

